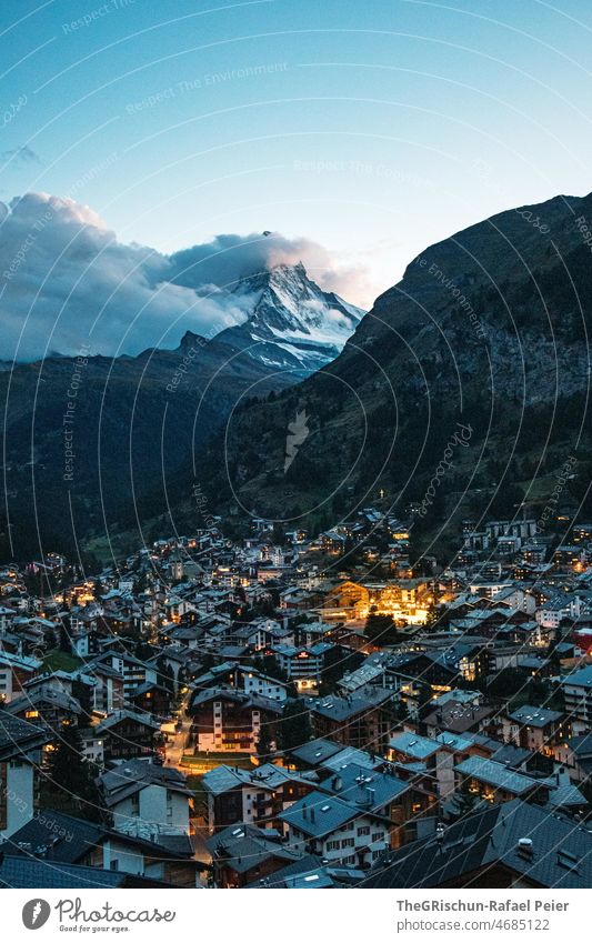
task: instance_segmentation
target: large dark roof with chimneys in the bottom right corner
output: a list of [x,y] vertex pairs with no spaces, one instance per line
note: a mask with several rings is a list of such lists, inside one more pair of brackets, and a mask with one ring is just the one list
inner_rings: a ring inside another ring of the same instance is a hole
[[591,882],[591,833],[515,799],[389,852],[357,886],[550,887],[558,893],[588,890]]

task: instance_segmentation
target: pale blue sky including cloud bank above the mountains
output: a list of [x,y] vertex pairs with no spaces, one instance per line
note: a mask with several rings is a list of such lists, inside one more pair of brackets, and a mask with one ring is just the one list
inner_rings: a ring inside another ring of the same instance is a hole
[[427,245],[588,193],[591,42],[589,0],[3,0],[0,357],[71,352],[92,298],[168,345],[223,327],[168,282],[195,247],[215,283],[219,237],[368,309]]

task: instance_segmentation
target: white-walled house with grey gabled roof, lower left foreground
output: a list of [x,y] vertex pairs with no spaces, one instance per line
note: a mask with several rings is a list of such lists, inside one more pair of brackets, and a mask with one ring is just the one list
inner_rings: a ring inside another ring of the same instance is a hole
[[97,785],[118,832],[148,840],[189,834],[193,793],[178,770],[124,760],[102,773]]

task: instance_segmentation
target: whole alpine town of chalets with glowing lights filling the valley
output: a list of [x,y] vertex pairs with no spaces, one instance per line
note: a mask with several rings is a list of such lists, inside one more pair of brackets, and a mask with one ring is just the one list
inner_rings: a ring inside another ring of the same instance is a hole
[[590,886],[592,524],[410,524],[2,570],[0,885]]

